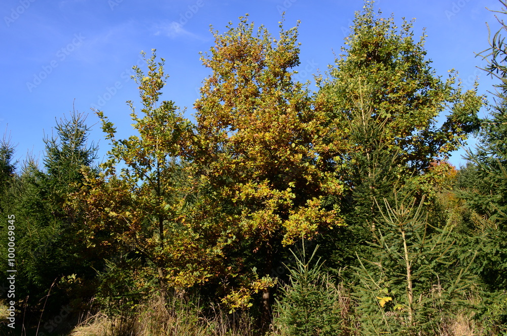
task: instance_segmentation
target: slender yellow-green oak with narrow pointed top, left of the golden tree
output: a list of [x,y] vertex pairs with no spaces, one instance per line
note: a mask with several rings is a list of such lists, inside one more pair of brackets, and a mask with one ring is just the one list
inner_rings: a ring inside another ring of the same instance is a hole
[[[85,217],[90,245],[120,246],[120,253],[140,256],[147,270],[155,271],[162,293],[168,272],[176,266],[169,262],[171,251],[180,245],[180,191],[175,176],[182,143],[191,128],[172,101],[159,102],[167,79],[163,63],[163,58],[156,61],[154,50],[147,59],[148,74],[138,66],[133,68],[141,114],[133,102],[127,103],[136,135],[117,139],[114,124],[102,111],[96,111],[112,148],[108,160],[100,165],[99,175],[83,171],[86,184],[73,205]],[[146,285],[143,280],[138,279],[139,286]]]

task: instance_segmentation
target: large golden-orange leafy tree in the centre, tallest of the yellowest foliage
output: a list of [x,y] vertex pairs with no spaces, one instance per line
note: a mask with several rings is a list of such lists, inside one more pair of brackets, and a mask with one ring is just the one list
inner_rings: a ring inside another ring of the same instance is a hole
[[[202,57],[212,74],[195,103],[197,140],[189,159],[213,190],[206,225],[246,242],[240,246],[250,252],[230,255],[255,252],[260,276],[267,276],[282,244],[340,225],[325,200],[341,194],[342,185],[320,169],[321,116],[307,88],[293,79],[298,28],[280,23],[275,39],[263,26],[255,31],[247,17],[231,24],[224,34],[213,32],[215,45]],[[251,272],[240,273],[238,286],[247,285]],[[265,320],[270,299],[263,288]]]

